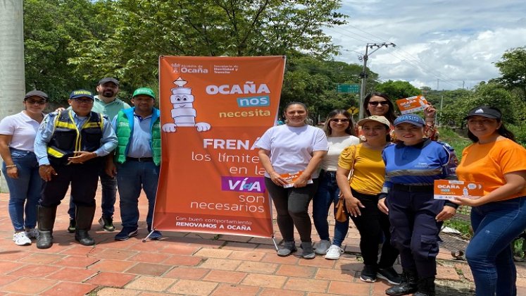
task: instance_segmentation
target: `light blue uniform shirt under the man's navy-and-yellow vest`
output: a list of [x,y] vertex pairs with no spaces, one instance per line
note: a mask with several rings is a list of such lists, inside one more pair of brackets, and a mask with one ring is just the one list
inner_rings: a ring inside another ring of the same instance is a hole
[[[77,129],[80,130],[88,116],[77,116],[77,113],[73,110],[71,110],[71,113],[73,113],[73,121],[75,121]],[[57,115],[58,113],[56,112],[46,115],[37,131],[37,136],[35,137],[35,154],[37,155],[39,166],[49,164],[49,159],[47,157],[47,143],[49,143],[53,136],[54,121]],[[111,123],[108,121],[108,118],[104,116],[102,118],[101,147],[94,152],[96,156],[106,156],[110,154],[115,147],[117,147],[117,136],[115,135],[113,128],[111,128]]]

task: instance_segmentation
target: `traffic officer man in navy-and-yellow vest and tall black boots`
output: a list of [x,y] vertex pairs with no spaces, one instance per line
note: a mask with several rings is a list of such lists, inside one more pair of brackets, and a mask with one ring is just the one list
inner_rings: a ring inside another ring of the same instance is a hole
[[71,110],[49,113],[35,138],[39,175],[45,181],[38,206],[37,247],[53,245],[56,208],[71,184],[76,205],[75,240],[94,245],[88,231],[95,214],[95,193],[102,156],[117,146],[117,137],[106,116],[93,112],[94,97],[87,90],[71,92]]

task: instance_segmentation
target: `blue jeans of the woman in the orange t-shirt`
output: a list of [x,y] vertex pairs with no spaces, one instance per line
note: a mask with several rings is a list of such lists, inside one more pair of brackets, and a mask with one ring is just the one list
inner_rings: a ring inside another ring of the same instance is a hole
[[517,295],[511,242],[526,228],[526,197],[471,209],[474,235],[465,251],[477,296]]

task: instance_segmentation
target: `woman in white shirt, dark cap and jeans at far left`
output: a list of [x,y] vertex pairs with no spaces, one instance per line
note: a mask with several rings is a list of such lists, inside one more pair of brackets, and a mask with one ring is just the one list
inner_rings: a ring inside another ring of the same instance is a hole
[[9,188],[8,211],[16,245],[31,245],[31,238],[38,237],[37,203],[43,180],[33,145],[47,99],[44,92],[28,92],[23,101],[25,110],[0,121],[2,172]]

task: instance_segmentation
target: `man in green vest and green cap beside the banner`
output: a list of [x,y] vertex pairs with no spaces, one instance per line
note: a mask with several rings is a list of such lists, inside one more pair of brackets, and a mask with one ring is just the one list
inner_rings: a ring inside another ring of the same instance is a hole
[[118,145],[113,160],[108,158],[106,163],[106,173],[117,179],[123,223],[123,230],[115,235],[115,240],[127,240],[138,234],[141,189],[148,199],[146,225],[149,238],[158,240],[162,235],[157,230],[152,231],[151,223],[161,166],[161,118],[159,109],[154,107],[153,90],[138,88],[133,92],[132,103],[132,109],[119,111],[113,119]]

